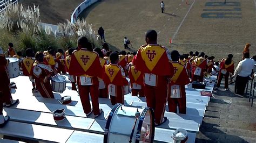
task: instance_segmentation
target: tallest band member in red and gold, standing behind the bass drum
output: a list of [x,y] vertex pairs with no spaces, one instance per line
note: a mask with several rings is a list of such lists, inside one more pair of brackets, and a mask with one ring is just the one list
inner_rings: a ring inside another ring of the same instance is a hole
[[173,76],[171,55],[167,48],[157,44],[157,32],[149,30],[145,34],[146,45],[139,48],[133,58],[133,65],[144,74],[144,94],[147,106],[154,109],[156,125],[164,123],[167,102],[168,77]]

